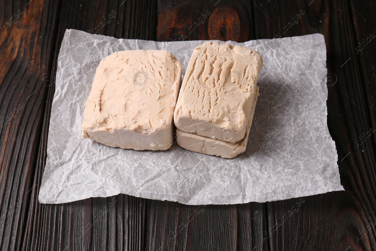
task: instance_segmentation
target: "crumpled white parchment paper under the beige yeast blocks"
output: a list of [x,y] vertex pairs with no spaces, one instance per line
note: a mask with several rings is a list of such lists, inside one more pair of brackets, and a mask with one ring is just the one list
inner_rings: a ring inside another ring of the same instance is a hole
[[343,190],[326,122],[326,48],[321,34],[226,42],[255,49],[264,59],[247,150],[233,159],[191,152],[176,143],[167,151],[135,151],[81,138],[85,102],[102,58],[121,50],[169,50],[182,62],[184,74],[193,49],[202,43],[116,39],[66,30],[39,202],[125,193],[191,205],[236,204]]

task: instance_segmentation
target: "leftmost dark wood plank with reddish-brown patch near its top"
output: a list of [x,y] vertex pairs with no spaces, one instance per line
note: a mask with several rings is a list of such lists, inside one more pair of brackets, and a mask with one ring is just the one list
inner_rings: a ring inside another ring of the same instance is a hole
[[[48,3],[6,6],[9,8],[2,9],[1,27],[20,10],[17,22],[0,35],[0,120],[6,122],[0,129],[0,249],[13,250],[22,249],[25,242],[31,246],[32,237],[42,236],[36,234],[40,226],[29,225],[27,219],[38,217],[33,211],[37,201],[35,173],[40,172],[37,166],[43,161],[39,158],[43,142],[40,128],[48,90],[42,79],[53,51],[53,45],[46,41],[54,38],[56,23],[47,13],[53,11]],[[41,15],[43,9],[46,15]],[[9,114],[15,116],[8,120],[6,116],[12,117]]]

